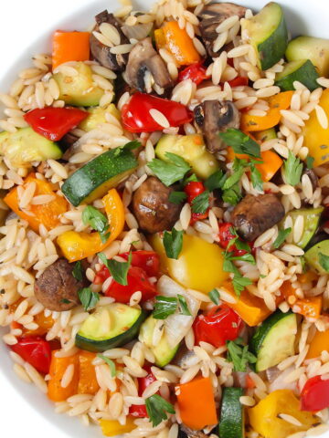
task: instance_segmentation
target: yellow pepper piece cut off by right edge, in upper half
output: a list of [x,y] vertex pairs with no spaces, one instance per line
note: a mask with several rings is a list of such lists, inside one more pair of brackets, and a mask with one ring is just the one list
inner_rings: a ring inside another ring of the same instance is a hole
[[[329,114],[329,89],[324,89],[319,105],[324,109],[324,112]],[[324,162],[329,162],[329,128],[324,129],[320,125],[315,110],[311,112],[310,119],[305,120],[302,135],[304,136],[303,145],[309,149],[309,153],[314,159],[314,166],[321,166]]]

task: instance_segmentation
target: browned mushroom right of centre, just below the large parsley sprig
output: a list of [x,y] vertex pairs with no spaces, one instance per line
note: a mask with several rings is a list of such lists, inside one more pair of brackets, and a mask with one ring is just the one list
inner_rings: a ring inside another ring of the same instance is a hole
[[233,210],[232,222],[248,242],[256,239],[284,216],[284,208],[275,194],[247,194]]

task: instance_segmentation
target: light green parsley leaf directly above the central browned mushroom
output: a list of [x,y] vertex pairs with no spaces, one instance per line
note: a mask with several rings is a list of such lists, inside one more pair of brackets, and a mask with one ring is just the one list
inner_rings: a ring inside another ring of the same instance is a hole
[[167,162],[154,158],[147,165],[164,185],[169,186],[184,178],[191,167],[184,158],[175,153],[166,152],[165,157]]

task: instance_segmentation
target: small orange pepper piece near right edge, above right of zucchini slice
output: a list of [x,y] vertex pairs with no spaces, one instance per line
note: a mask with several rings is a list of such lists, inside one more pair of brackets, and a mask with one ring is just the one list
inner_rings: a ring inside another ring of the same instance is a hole
[[290,281],[285,281],[281,286],[281,294],[295,313],[309,318],[319,318],[322,310],[322,297],[299,298]]

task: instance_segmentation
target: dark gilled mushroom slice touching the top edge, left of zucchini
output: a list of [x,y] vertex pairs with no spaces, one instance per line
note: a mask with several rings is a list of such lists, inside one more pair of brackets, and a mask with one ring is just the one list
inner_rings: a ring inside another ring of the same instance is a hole
[[214,51],[214,42],[218,37],[217,27],[229,16],[239,16],[242,18],[246,14],[246,8],[234,3],[211,3],[206,5],[198,14],[200,20],[200,32],[203,42],[207,48],[209,57],[218,57],[218,52]]

